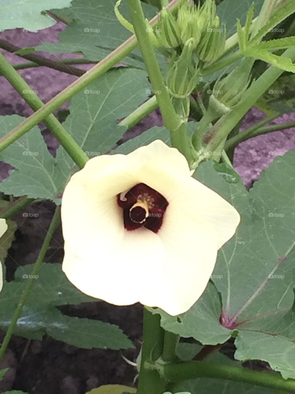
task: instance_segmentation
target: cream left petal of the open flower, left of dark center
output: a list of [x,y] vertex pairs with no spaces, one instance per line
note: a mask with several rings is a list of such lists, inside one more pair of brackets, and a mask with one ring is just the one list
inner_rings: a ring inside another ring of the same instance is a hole
[[113,239],[120,242],[123,237],[122,210],[116,195],[138,183],[125,158],[93,158],[66,185],[61,205],[63,237],[79,258],[87,253],[89,245],[106,249],[112,247]]

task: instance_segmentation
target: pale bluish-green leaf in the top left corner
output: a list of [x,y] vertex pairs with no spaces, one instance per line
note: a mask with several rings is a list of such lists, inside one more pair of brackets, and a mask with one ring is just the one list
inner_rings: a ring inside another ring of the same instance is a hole
[[5,0],[0,6],[1,31],[7,29],[24,28],[26,30],[36,32],[41,29],[50,27],[56,21],[47,13],[42,11],[52,7],[63,8],[68,7],[71,0]]

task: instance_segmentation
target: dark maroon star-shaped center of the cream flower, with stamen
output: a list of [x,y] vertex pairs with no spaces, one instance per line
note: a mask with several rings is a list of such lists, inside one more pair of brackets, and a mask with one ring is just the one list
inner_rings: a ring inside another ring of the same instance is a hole
[[162,226],[164,213],[169,204],[162,194],[145,183],[138,183],[130,190],[118,194],[117,201],[123,209],[126,230],[146,227],[156,233]]

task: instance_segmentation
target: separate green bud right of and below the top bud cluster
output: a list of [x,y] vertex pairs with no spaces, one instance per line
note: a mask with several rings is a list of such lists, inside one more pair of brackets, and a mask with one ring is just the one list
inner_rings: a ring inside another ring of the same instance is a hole
[[243,72],[243,67],[234,69],[226,77],[215,82],[209,102],[223,113],[229,111],[243,99],[249,83],[250,78]]

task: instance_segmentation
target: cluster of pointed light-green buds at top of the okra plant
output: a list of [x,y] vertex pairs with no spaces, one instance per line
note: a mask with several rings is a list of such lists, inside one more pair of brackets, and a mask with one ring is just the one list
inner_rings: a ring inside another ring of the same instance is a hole
[[186,2],[177,17],[163,8],[156,37],[158,46],[169,54],[166,83],[176,99],[187,98],[197,85],[200,60],[215,61],[225,46],[225,29],[220,28],[214,0],[206,0],[203,6]]

